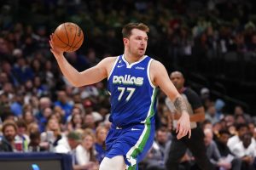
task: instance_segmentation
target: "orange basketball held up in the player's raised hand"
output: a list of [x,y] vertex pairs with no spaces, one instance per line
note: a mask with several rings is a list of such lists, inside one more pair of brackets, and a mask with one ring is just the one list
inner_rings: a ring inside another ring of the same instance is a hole
[[84,33],[78,25],[72,22],[62,23],[55,29],[52,41],[61,50],[73,52],[78,50],[84,42]]

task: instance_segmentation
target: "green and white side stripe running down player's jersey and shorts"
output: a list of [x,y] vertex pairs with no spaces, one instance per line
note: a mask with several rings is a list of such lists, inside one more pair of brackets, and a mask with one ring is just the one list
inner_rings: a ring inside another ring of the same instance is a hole
[[[145,147],[145,144],[147,143],[148,137],[150,135],[152,126],[151,126],[151,117],[154,116],[154,100],[156,98],[157,94],[157,88],[154,88],[153,94],[151,96],[151,105],[148,110],[148,116],[146,117],[146,120],[143,121],[144,123],[144,130],[141,134],[140,138],[138,139],[137,143],[131,147],[131,150],[129,150],[126,154],[126,158],[128,161],[131,162],[131,166],[128,169],[133,169],[134,165],[137,164],[137,156],[143,151],[143,148]],[[136,166],[135,166],[136,167]]]

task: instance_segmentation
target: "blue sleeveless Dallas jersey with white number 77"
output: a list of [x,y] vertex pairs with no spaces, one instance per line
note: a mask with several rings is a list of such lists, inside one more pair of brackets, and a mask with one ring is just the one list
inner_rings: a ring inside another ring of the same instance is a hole
[[152,60],[145,55],[130,65],[124,55],[117,57],[108,77],[111,94],[109,121],[114,126],[154,123],[157,88],[149,76]]

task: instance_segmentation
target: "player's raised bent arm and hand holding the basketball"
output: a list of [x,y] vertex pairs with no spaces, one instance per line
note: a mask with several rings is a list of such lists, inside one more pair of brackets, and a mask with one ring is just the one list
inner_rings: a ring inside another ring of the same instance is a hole
[[96,66],[91,67],[85,71],[79,72],[72,65],[67,62],[67,59],[63,55],[63,51],[60,48],[57,48],[52,41],[53,34],[50,36],[49,44],[50,51],[54,54],[55,59],[58,62],[58,65],[61,68],[61,72],[75,87],[81,87],[88,84],[93,84],[100,82],[102,79],[108,77],[108,66],[112,65],[114,58],[102,59],[100,63]]

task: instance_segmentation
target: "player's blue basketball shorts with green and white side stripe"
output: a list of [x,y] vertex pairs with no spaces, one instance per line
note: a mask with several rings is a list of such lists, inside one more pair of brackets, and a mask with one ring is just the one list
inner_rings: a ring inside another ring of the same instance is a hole
[[154,125],[111,126],[106,139],[106,157],[124,156],[127,169],[137,169],[154,142]]

